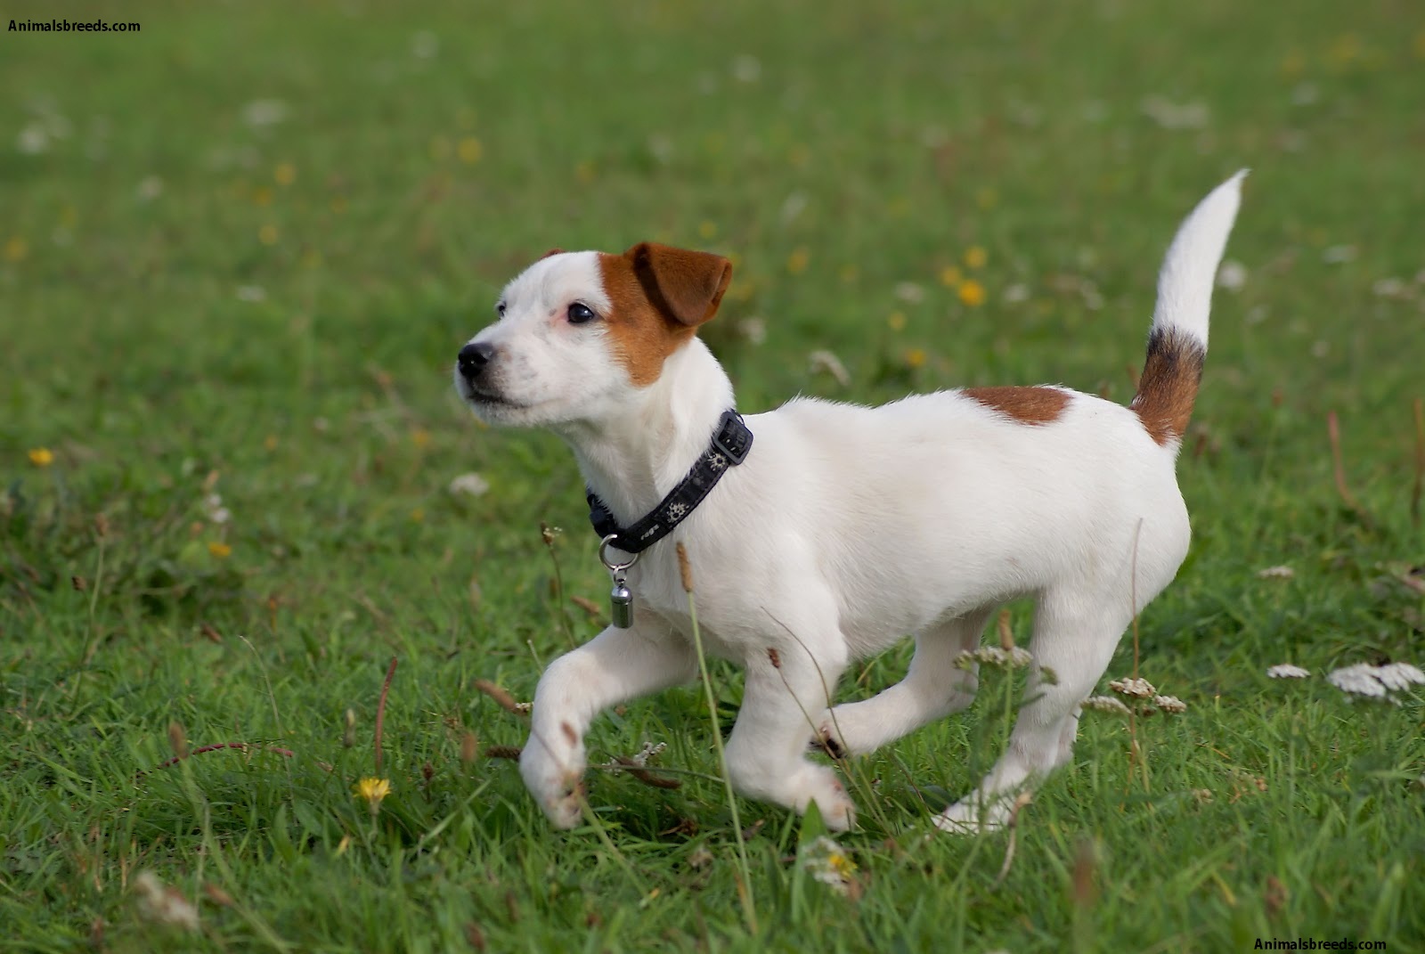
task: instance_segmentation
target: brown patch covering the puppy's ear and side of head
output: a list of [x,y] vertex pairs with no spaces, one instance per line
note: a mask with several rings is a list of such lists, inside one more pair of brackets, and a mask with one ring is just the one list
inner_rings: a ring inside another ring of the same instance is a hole
[[663,362],[717,314],[732,279],[721,255],[640,242],[623,255],[600,252],[604,292],[613,305],[604,324],[636,386],[663,374]]

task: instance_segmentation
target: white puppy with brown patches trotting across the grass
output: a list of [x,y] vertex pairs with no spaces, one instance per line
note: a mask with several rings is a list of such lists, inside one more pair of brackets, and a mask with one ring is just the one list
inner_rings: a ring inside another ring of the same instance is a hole
[[[460,398],[487,424],[560,435],[604,529],[661,520],[651,545],[616,530],[600,550],[616,615],[620,599],[636,602],[630,625],[539,682],[520,773],[553,824],[581,817],[584,733],[600,710],[697,677],[681,545],[703,645],[747,672],[728,780],[797,811],[815,803],[832,830],[856,810],[811,750],[868,753],[969,706],[978,677],[962,655],[996,607],[1033,597],[1026,703],[1007,750],[933,819],[949,831],[1003,826],[1019,791],[1070,761],[1079,703],[1187,555],[1174,465],[1244,175],[1173,240],[1129,406],[1002,386],[879,408],[795,398],[742,419],[697,338],[731,281],[725,258],[654,242],[621,255],[553,250],[516,277],[499,319],[459,352]],[[673,501],[698,473],[701,496]],[[641,549],[637,560],[620,545]],[[834,704],[852,660],[908,635],[902,682]]]

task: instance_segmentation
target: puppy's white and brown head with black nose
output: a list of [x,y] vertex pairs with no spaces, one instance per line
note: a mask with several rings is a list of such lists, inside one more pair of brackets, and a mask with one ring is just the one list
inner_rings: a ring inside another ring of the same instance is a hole
[[596,418],[658,381],[731,278],[720,255],[656,242],[621,255],[550,251],[504,287],[499,321],[460,349],[456,391],[490,424]]

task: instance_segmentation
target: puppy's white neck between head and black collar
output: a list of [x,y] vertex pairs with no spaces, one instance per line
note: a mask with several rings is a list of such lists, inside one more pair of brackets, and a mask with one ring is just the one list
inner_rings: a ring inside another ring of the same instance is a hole
[[584,482],[621,526],[658,505],[707,451],[732,382],[697,338],[668,355],[663,374],[597,419],[561,425]]

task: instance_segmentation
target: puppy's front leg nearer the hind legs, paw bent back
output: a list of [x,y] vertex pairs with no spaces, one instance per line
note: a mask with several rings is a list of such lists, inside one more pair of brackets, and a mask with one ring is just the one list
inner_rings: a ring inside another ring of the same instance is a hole
[[845,669],[845,652],[828,650],[815,660],[809,652],[792,643],[748,659],[727,770],[738,791],[797,811],[815,801],[826,827],[844,831],[855,823],[856,807],[832,769],[807,760],[807,737]]

